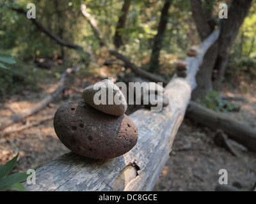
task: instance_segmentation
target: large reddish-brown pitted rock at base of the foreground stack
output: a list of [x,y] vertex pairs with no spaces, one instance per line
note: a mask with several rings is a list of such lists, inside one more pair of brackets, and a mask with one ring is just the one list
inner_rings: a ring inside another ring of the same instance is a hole
[[127,115],[109,115],[85,101],[61,105],[54,115],[54,129],[68,149],[93,159],[121,156],[138,140],[138,129]]

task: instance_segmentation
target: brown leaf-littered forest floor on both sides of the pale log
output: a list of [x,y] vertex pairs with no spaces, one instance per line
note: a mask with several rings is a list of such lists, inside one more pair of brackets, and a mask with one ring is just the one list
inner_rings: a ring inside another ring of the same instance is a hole
[[[84,80],[74,77],[74,82],[70,84],[65,94],[60,94],[47,108],[4,129],[0,133],[0,165],[19,152],[19,159],[13,172],[26,171],[49,163],[69,152],[56,136],[52,118],[59,106],[67,101],[82,99],[81,92],[84,87],[95,82],[93,77]],[[0,122],[13,113],[19,113],[24,108],[42,100],[54,91],[58,84],[52,77],[45,78],[38,85],[42,91],[35,93],[24,90],[20,94],[10,96],[5,103],[2,103]],[[243,91],[223,90],[223,94],[244,97],[244,101],[237,102],[241,105],[241,110],[227,114],[250,124],[256,131],[256,92],[255,89],[250,90],[246,94],[243,94]],[[45,120],[46,117],[50,119]],[[17,128],[35,121],[38,122],[37,126],[16,131]],[[251,191],[256,182],[256,175],[249,168],[256,170],[256,154],[230,141],[242,156],[237,158],[222,147],[216,146],[213,136],[214,133],[209,129],[184,119],[173,143],[170,158],[161,172],[154,191],[214,191],[221,176],[218,174],[221,169],[227,170],[230,186],[234,184],[237,187],[240,186],[242,191]]]

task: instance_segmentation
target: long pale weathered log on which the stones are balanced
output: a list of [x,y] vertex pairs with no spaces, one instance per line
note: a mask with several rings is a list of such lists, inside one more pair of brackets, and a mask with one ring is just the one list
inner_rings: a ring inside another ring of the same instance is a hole
[[129,117],[138,128],[138,143],[123,156],[95,160],[72,152],[36,172],[36,184],[29,191],[150,191],[166,163],[172,143],[184,118],[195,75],[204,54],[218,38],[218,31],[207,38],[197,57],[187,57],[188,77],[174,77],[165,87],[169,105],[161,112],[138,110]]

